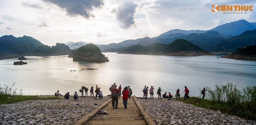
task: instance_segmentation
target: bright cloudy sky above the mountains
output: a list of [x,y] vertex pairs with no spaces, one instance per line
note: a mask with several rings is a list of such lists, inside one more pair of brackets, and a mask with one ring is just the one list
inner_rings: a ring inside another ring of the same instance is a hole
[[[212,4],[252,5],[246,14],[212,12]],[[255,0],[0,0],[0,36],[30,36],[44,45],[120,43],[172,29],[208,30],[256,22]]]

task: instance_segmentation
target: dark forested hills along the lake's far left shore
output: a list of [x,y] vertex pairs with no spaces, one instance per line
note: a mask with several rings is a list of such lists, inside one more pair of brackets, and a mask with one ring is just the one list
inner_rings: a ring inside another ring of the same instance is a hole
[[65,44],[57,43],[56,46],[43,45],[40,41],[28,37],[14,37],[5,35],[0,37],[0,53],[9,53],[26,56],[68,55],[70,49]]

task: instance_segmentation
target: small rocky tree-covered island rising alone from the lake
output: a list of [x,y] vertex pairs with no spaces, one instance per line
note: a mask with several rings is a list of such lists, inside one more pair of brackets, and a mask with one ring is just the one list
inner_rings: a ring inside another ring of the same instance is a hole
[[73,51],[68,57],[73,57],[73,61],[83,61],[83,62],[108,62],[108,58],[103,55],[96,45],[89,43],[85,46],[78,48]]

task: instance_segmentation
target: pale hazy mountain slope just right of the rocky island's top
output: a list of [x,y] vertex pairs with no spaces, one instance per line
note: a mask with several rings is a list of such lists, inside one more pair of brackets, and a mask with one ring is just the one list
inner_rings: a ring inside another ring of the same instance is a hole
[[138,44],[141,39],[142,38],[136,39],[136,40],[125,40],[125,41],[123,41],[121,43],[117,43],[117,44],[116,43],[111,43],[111,44],[108,44],[108,45],[102,45],[102,46],[99,46],[99,48],[102,52],[109,52],[109,51],[113,51],[113,50],[119,50],[120,51],[120,48],[121,48],[121,50],[123,50],[125,48],[130,47],[130,46]]

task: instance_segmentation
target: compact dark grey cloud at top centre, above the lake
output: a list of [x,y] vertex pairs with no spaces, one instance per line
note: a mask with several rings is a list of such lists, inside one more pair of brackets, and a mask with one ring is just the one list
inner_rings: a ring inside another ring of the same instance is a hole
[[125,1],[124,3],[119,4],[117,8],[111,10],[112,13],[116,13],[119,27],[123,29],[130,28],[131,26],[136,27],[134,13],[137,6],[138,5],[132,1]]

